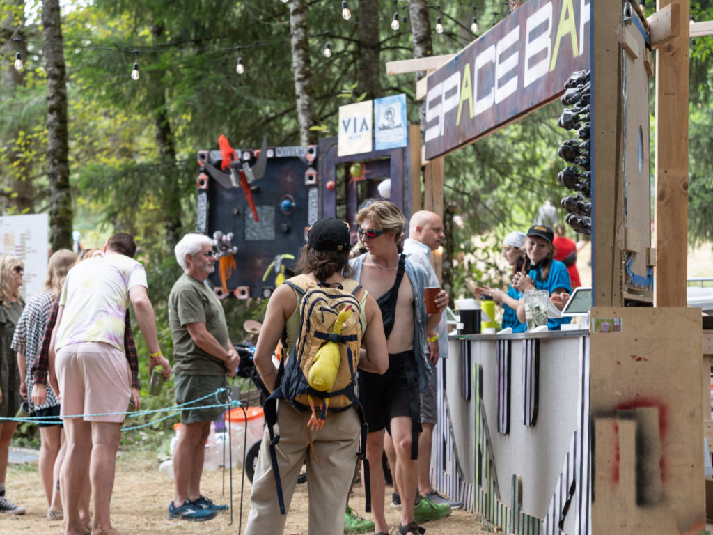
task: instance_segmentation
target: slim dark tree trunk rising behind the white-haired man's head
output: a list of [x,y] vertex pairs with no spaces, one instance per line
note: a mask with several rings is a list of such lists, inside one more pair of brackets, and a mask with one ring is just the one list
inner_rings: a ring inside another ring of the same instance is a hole
[[[155,24],[151,27],[151,34],[157,43],[163,41],[164,26],[163,24]],[[176,169],[176,148],[173,128],[168,118],[166,109],[168,103],[166,101],[166,93],[163,84],[160,82],[159,74],[150,73],[150,78],[153,79],[151,86],[153,87],[153,121],[155,124],[155,138],[158,145],[158,153],[161,162],[160,168],[160,188],[161,198],[163,200],[163,227],[165,230],[165,238],[167,250],[173,250],[173,246],[178,243],[181,238],[181,210],[180,210],[180,188],[177,181],[178,170]]]

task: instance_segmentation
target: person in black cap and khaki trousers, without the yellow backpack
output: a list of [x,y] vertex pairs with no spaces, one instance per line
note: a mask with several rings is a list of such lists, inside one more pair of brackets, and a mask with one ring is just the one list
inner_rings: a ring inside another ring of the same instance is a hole
[[[347,278],[349,275],[349,228],[337,219],[322,219],[314,223],[307,234],[295,270],[303,275],[292,277],[279,285],[270,297],[265,311],[265,320],[255,347],[255,367],[270,392],[281,394],[282,386],[290,373],[289,360],[295,358],[292,350],[299,341],[299,303],[307,287],[338,287],[344,294],[352,292],[359,302],[361,325],[361,352],[359,368],[377,374],[384,373],[388,365],[386,338],[381,324],[381,312],[374,297]],[[357,289],[358,288],[358,289]],[[285,363],[282,382],[277,383],[277,370],[272,363],[272,354],[277,342],[284,340],[282,362]],[[301,373],[299,367],[296,372]],[[268,419],[268,404],[265,404]],[[344,506],[347,492],[352,483],[356,452],[359,446],[361,422],[355,407],[341,412],[332,411],[324,419],[324,426],[313,430],[312,442],[317,462],[309,452],[307,422],[312,416],[309,411],[299,411],[287,399],[277,401],[277,425],[279,441],[275,441],[275,459],[279,469],[284,503],[292,499],[294,485],[302,463],[307,458],[307,480],[309,481],[309,534],[341,534],[344,529]],[[269,422],[268,422],[269,423]],[[270,429],[265,429],[260,445],[260,454],[255,467],[250,493],[250,514],[247,519],[246,535],[281,534],[286,515],[280,514],[275,472],[270,459]]]

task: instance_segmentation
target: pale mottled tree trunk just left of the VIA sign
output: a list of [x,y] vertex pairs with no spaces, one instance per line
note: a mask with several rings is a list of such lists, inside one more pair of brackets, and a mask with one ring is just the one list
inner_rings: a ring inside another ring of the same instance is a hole
[[314,88],[312,87],[312,63],[309,60],[309,37],[307,34],[307,0],[289,2],[289,34],[292,37],[292,72],[294,95],[297,101],[299,143],[315,145],[319,118],[314,111]]

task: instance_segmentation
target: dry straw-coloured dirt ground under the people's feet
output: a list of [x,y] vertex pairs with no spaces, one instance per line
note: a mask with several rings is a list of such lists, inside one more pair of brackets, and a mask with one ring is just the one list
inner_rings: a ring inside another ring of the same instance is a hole
[[[116,464],[116,482],[112,499],[112,523],[116,529],[130,535],[161,534],[220,534],[240,535],[245,531],[247,511],[250,509],[250,481],[245,478],[242,491],[242,527],[240,524],[240,496],[242,470],[233,469],[232,490],[235,506],[230,523],[230,512],[220,514],[207,522],[188,522],[166,518],[168,502],[173,496],[173,481],[158,470],[155,455],[140,457],[133,452],[120,454]],[[8,499],[27,509],[22,516],[0,515],[0,535],[56,534],[62,530],[61,521],[45,519],[47,504],[37,474],[36,464],[10,464],[6,479]],[[223,489],[225,488],[225,494]],[[225,487],[222,469],[204,472],[202,491],[217,503],[230,500],[230,474],[225,472]],[[387,486],[391,496],[391,487]],[[222,496],[225,496],[222,497]],[[361,487],[350,503],[364,513],[364,493]],[[396,509],[386,507],[386,518],[391,524],[391,534],[399,524]],[[424,524],[427,533],[439,535],[481,535],[488,531],[481,526],[475,514],[453,511],[446,519]],[[240,528],[240,531],[239,531]],[[287,516],[285,535],[307,534],[307,485],[297,486],[292,499],[292,508]],[[272,535],[272,534],[266,534]],[[329,535],[329,534],[325,534]]]

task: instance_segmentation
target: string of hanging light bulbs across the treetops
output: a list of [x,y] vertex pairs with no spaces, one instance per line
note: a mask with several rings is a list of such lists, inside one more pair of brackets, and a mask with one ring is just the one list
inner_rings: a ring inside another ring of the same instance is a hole
[[[288,4],[290,0],[281,0],[283,4]],[[466,4],[461,4],[458,1],[453,1],[453,0],[440,0],[441,3],[443,4],[448,4],[451,6],[457,6],[457,8],[463,8],[463,9],[472,9],[473,11],[473,19],[471,21],[470,25],[470,31],[472,34],[476,34],[478,31],[478,20],[476,16],[476,6],[472,5],[466,5]],[[483,0],[484,1],[484,0]],[[507,4],[507,3],[506,3]],[[645,6],[645,0],[642,0],[642,9]],[[409,0],[394,0],[394,14],[391,17],[391,29],[394,31],[399,31],[401,29],[401,24],[405,24],[406,21],[408,21],[406,17],[406,9],[408,9],[409,6]],[[435,31],[438,34],[443,34],[443,31],[445,31],[445,28],[443,26],[443,17],[447,17],[448,19],[451,19],[453,21],[458,22],[456,19],[454,19],[452,16],[448,16],[446,14],[441,14],[441,4],[437,5],[431,5],[431,4],[426,4],[426,6],[429,7],[429,9],[434,9],[436,11],[436,26],[435,26]],[[399,8],[402,10],[402,14],[399,15]],[[498,14],[493,12],[493,15],[498,16]],[[373,19],[381,19],[383,14],[379,14],[373,17],[369,17],[369,21]],[[349,10],[349,5],[347,4],[347,0],[342,0],[342,19],[344,21],[349,21],[352,18],[352,11]],[[364,21],[362,21],[364,22]],[[356,26],[359,24],[359,21],[352,21],[350,24]],[[460,24],[460,23],[458,23]],[[494,24],[493,24],[494,25]],[[465,26],[463,26],[465,27]],[[308,38],[317,38],[321,36],[327,36],[329,34],[334,34],[333,30],[327,30],[327,31],[320,31],[315,34],[309,34],[307,37]],[[337,35],[334,35],[337,39],[342,39]],[[27,44],[39,44],[40,46],[42,45],[41,41],[31,41],[31,40],[26,40],[26,39],[19,39],[17,37],[12,39],[17,46],[17,51],[15,53],[15,60],[14,60],[14,67],[20,71],[22,68],[25,66],[25,62],[23,61],[22,54],[20,51],[20,44],[21,43],[27,43]],[[205,51],[215,51],[215,52],[222,52],[222,51],[232,51],[235,50],[238,54],[237,57],[237,64],[235,66],[235,71],[238,74],[243,74],[245,73],[245,64],[242,61],[242,54],[241,51],[245,49],[253,49],[253,48],[258,48],[261,46],[267,46],[270,44],[276,44],[280,42],[285,42],[285,41],[290,41],[290,37],[286,38],[281,38],[281,39],[272,39],[270,41],[257,41],[255,43],[251,44],[244,44],[240,46],[235,46],[235,47],[217,47],[217,48],[210,48],[210,49],[195,49],[195,51],[200,51],[200,52],[205,52]],[[166,47],[169,48],[166,48]],[[165,53],[183,53],[185,52],[185,49],[183,48],[178,48],[178,49],[172,49],[170,48],[170,44],[165,44],[162,46],[156,46],[156,47],[148,47],[142,50],[136,49],[136,48],[131,48],[131,49],[121,49],[121,48],[109,48],[106,46],[91,46],[91,45],[79,45],[79,44],[64,44],[63,45],[64,49],[88,49],[88,50],[102,50],[102,51],[115,51],[115,52],[122,52],[125,54],[133,54],[134,56],[134,61],[133,61],[133,66],[131,68],[130,72],[130,78],[133,81],[138,81],[140,78],[140,73],[139,73],[139,66],[138,66],[138,55],[139,54],[165,54]],[[325,58],[331,58],[332,57],[332,44],[330,41],[327,41],[324,44],[324,49],[322,51],[322,54],[324,55]]]

